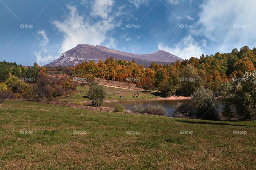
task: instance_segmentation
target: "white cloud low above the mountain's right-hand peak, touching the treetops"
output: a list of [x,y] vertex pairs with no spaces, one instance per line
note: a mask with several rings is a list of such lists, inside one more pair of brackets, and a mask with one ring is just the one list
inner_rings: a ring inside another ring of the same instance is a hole
[[194,41],[191,35],[184,37],[174,48],[170,48],[163,43],[158,44],[158,48],[159,50],[167,51],[184,60],[190,57],[199,58],[203,54],[201,46]]

